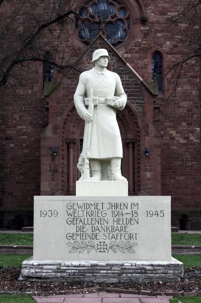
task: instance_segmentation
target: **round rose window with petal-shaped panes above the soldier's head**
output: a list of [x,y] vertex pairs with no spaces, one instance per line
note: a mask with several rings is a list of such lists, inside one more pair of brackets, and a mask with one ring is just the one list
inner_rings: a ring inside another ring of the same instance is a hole
[[117,0],[90,0],[79,10],[76,23],[78,36],[88,44],[98,34],[100,26],[103,34],[114,46],[120,45],[130,31],[131,17],[128,9]]

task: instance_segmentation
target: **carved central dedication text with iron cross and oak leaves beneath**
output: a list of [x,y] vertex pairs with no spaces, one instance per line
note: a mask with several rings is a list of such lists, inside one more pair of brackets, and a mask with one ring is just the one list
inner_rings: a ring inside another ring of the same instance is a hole
[[133,202],[68,202],[69,253],[135,253],[138,209],[139,203]]

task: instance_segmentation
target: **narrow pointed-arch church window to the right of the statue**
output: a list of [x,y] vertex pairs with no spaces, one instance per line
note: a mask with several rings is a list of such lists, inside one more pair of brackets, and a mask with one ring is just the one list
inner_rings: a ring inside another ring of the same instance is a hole
[[158,93],[163,93],[163,60],[159,52],[155,52],[151,58],[151,77],[153,80],[154,74],[158,82]]

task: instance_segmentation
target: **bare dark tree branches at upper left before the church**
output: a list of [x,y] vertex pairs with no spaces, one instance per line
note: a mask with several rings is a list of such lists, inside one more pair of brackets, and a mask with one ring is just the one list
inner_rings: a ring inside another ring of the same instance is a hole
[[[0,5],[1,3],[3,3],[3,1],[1,2],[0,0]],[[56,45],[58,46],[58,43],[54,41],[55,38],[53,37],[52,26],[57,25],[57,28],[61,27],[59,35],[57,37],[57,40],[59,40],[61,32],[64,29],[65,19],[69,19],[70,21],[74,22],[71,16],[76,16],[76,18],[79,18],[79,20],[81,20],[80,16],[76,13],[75,10],[72,10],[72,8],[69,6],[69,3],[68,10],[62,14],[58,14],[61,1],[55,0],[52,6],[50,6],[50,1],[49,6],[48,3],[45,3],[46,12],[44,11],[44,18],[40,20],[37,12],[34,15],[33,4],[35,3],[36,2],[34,0],[24,0],[23,5],[25,5],[25,7],[28,4],[32,5],[33,11],[23,16],[24,23],[20,24],[22,29],[19,32],[18,36],[16,36],[16,41],[13,43],[15,47],[13,48],[7,49],[7,46],[10,47],[10,45],[12,45],[12,40],[9,37],[11,37],[11,34],[14,33],[14,27],[16,27],[16,24],[18,22],[18,15],[22,9],[22,4],[10,12],[9,22],[5,23],[5,26],[4,23],[2,23],[3,30],[2,34],[0,35],[0,87],[5,86],[8,83],[8,79],[11,76],[13,69],[18,64],[22,64],[23,62],[47,62],[51,63],[52,66],[58,70],[63,70],[71,66],[70,64],[60,64],[59,62],[48,62],[47,60],[44,60],[43,55],[45,48],[44,45],[42,46],[41,44],[43,43],[41,41],[41,35],[47,32],[48,43],[51,44],[52,51],[56,53]],[[46,21],[45,19],[48,20]],[[32,25],[33,22],[36,24],[35,29]]]

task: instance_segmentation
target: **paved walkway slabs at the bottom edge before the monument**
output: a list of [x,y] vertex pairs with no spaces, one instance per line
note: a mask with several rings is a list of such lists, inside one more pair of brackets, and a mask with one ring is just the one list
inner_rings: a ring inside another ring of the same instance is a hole
[[37,303],[169,303],[172,296],[125,293],[80,293],[54,296],[33,296]]

